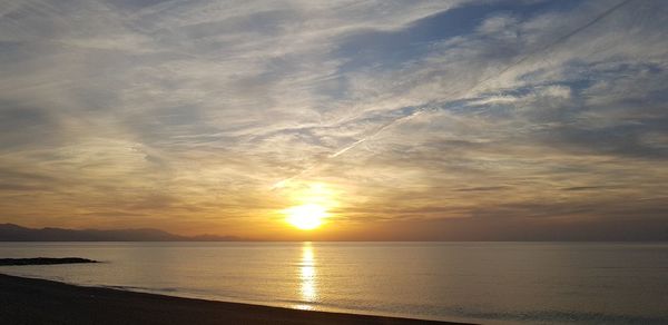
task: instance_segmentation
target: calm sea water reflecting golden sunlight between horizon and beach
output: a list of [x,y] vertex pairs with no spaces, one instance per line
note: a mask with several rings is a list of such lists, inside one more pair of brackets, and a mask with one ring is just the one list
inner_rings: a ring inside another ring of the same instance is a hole
[[0,273],[301,309],[483,324],[668,324],[668,244],[0,243],[90,265]]

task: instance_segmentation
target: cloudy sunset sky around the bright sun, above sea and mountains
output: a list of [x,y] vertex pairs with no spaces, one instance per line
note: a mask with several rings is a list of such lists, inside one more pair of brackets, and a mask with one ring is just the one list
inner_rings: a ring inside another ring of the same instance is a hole
[[[661,0],[1,0],[0,221],[667,239],[666,17]],[[325,224],[291,227],[304,206]]]

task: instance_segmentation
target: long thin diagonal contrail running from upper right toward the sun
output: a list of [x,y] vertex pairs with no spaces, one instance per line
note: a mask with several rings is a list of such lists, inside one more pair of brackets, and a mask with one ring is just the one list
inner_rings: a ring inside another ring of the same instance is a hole
[[[561,36],[561,37],[559,37],[559,38],[558,38],[558,39],[556,39],[554,41],[552,41],[552,42],[550,42],[550,43],[548,43],[548,45],[546,45],[546,46],[543,46],[543,47],[541,47],[541,48],[539,48],[539,49],[537,49],[537,50],[533,50],[533,51],[529,52],[528,55],[525,55],[525,56],[523,56],[523,57],[519,58],[518,60],[515,60],[515,61],[511,62],[510,65],[505,66],[503,69],[499,70],[497,73],[494,73],[494,75],[492,75],[492,76],[490,76],[490,77],[487,77],[487,78],[483,78],[483,79],[479,80],[478,82],[475,82],[475,85],[473,85],[473,86],[472,86],[471,88],[469,88],[468,90],[469,90],[469,91],[471,91],[471,90],[474,90],[474,89],[477,89],[478,87],[480,87],[480,86],[482,86],[482,85],[484,85],[484,83],[489,82],[490,80],[493,80],[493,79],[495,79],[495,78],[499,78],[500,76],[504,75],[504,73],[505,73],[505,72],[508,72],[509,70],[511,70],[511,69],[515,68],[517,66],[519,66],[519,65],[523,63],[523,62],[524,62],[524,61],[527,61],[529,58],[531,58],[531,57],[533,57],[533,56],[536,56],[536,55],[538,55],[538,53],[541,53],[541,52],[543,52],[543,51],[547,51],[547,50],[549,50],[549,49],[551,49],[551,48],[553,48],[553,47],[556,47],[556,46],[558,46],[558,45],[560,45],[560,43],[562,43],[562,42],[567,41],[568,39],[570,39],[570,38],[572,38],[573,36],[576,36],[576,35],[580,33],[581,31],[586,30],[587,28],[589,28],[589,27],[591,27],[591,26],[596,24],[596,23],[597,23],[597,22],[599,22],[600,20],[602,20],[602,19],[605,19],[606,17],[610,16],[612,12],[617,11],[619,8],[621,8],[621,7],[626,6],[627,3],[631,2],[631,1],[633,1],[633,0],[625,0],[625,1],[621,1],[621,2],[619,2],[619,3],[617,3],[617,4],[612,6],[612,7],[608,8],[608,9],[607,9],[607,10],[605,10],[603,12],[601,12],[601,13],[597,14],[597,16],[596,16],[593,19],[591,19],[591,20],[590,20],[590,21],[588,21],[587,23],[584,23],[584,24],[582,24],[582,26],[580,26],[580,27],[578,27],[578,28],[576,28],[576,29],[571,30],[570,32],[568,32],[568,33],[566,33],[566,35],[563,35],[563,36]],[[452,95],[455,95],[456,92],[458,92],[458,91],[454,91],[454,92],[452,92],[452,93],[446,93],[445,96],[452,96]],[[399,117],[399,118],[395,118],[395,119],[393,119],[393,120],[390,120],[390,121],[387,121],[386,124],[384,124],[384,125],[382,125],[380,128],[377,128],[375,131],[373,131],[373,132],[371,132],[370,135],[367,135],[367,136],[365,136],[365,137],[363,137],[363,138],[361,138],[361,139],[358,139],[358,140],[356,140],[356,141],[352,142],[351,145],[347,145],[347,146],[345,146],[345,147],[344,147],[344,148],[342,148],[342,149],[338,149],[336,152],[334,152],[334,154],[332,154],[332,155],[327,156],[325,159],[321,159],[320,161],[316,161],[314,165],[312,165],[312,166],[310,166],[310,167],[307,167],[307,168],[303,169],[302,171],[299,171],[299,173],[297,173],[297,174],[295,174],[295,175],[293,175],[293,176],[291,176],[291,177],[288,177],[288,178],[285,178],[285,179],[283,179],[283,180],[281,180],[281,181],[277,181],[277,183],[275,183],[275,184],[274,184],[274,186],[272,186],[272,190],[274,190],[274,189],[276,189],[276,188],[282,188],[282,187],[284,187],[286,184],[288,184],[288,183],[289,183],[289,181],[292,181],[293,179],[295,179],[295,178],[298,178],[299,176],[302,176],[302,175],[306,174],[307,171],[310,171],[310,170],[314,169],[315,167],[320,166],[321,164],[324,164],[326,160],[328,160],[328,159],[332,159],[332,158],[336,158],[336,157],[338,157],[338,156],[341,156],[341,155],[343,155],[343,154],[345,154],[345,152],[347,152],[347,151],[350,151],[350,150],[352,150],[352,149],[356,148],[357,146],[360,146],[361,144],[363,144],[363,142],[367,141],[369,139],[372,139],[372,138],[376,137],[377,135],[380,135],[380,134],[381,134],[382,131],[384,131],[385,129],[387,129],[387,128],[391,128],[392,126],[394,126],[394,125],[396,125],[396,124],[399,124],[399,122],[402,122],[402,121],[409,120],[409,119],[411,119],[411,118],[414,118],[414,117],[416,117],[416,116],[419,116],[419,115],[421,115],[421,114],[425,112],[425,111],[426,111],[426,109],[429,109],[429,106],[425,106],[425,107],[423,107],[423,108],[419,108],[419,109],[416,109],[414,112],[412,112],[412,114],[410,114],[410,115],[407,115],[407,116],[402,116],[402,117]]]

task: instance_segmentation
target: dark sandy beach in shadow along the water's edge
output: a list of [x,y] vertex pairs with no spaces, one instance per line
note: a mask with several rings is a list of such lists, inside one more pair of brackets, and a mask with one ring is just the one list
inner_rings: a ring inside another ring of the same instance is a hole
[[188,299],[0,274],[0,324],[458,324]]

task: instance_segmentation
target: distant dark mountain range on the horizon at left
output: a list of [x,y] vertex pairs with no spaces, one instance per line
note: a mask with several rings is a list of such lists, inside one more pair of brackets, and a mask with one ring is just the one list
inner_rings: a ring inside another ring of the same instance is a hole
[[13,224],[0,224],[0,242],[236,242],[246,240],[235,236],[180,236],[159,229],[62,229],[26,228]]

